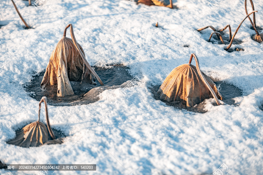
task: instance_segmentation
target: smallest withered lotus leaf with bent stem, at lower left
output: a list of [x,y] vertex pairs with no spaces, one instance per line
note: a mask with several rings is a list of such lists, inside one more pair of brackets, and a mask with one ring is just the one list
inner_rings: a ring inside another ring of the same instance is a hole
[[[44,101],[46,107],[46,122],[48,130],[44,123],[40,122],[40,109],[41,103]],[[47,111],[47,103],[46,97],[42,97],[41,101],[39,102],[39,113],[38,113],[38,120],[36,122],[32,122],[25,127],[23,127],[15,137],[15,139],[8,141],[7,143],[18,145],[22,147],[30,147],[30,146],[39,146],[44,144],[46,141],[49,140],[49,133],[52,139],[56,139],[53,131],[50,127],[49,123],[49,116]]]

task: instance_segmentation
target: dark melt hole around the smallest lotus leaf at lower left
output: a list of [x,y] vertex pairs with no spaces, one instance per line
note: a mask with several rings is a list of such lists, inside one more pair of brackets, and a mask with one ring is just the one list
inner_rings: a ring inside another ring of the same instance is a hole
[[[29,124],[29,123],[27,123]],[[47,125],[44,123],[44,125],[46,126],[47,128]],[[22,127],[23,128],[23,127]],[[18,128],[16,131],[15,131],[15,138],[16,136],[19,135],[19,132],[21,131],[22,128]],[[51,126],[52,128],[52,131],[54,133],[54,135],[56,136],[56,139],[52,140],[50,134],[49,134],[49,140],[46,141],[43,145],[51,145],[51,144],[62,144],[64,142],[64,138],[67,136],[66,134],[64,134],[62,131],[58,130],[58,129],[55,129]],[[11,139],[12,140],[12,139]],[[11,141],[10,140],[10,141]],[[6,142],[8,143],[8,141]],[[10,144],[10,143],[8,143]],[[39,145],[39,146],[42,146],[42,145]]]

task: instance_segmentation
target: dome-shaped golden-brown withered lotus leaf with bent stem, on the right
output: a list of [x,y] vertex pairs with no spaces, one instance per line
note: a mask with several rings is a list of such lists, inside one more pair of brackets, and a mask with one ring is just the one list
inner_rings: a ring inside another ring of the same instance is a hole
[[[196,67],[191,64],[193,57]],[[212,97],[217,105],[220,105],[218,98],[223,99],[214,82],[200,71],[199,62],[194,53],[188,64],[183,64],[172,70],[157,93],[162,100],[186,101],[187,107],[192,107]]]

